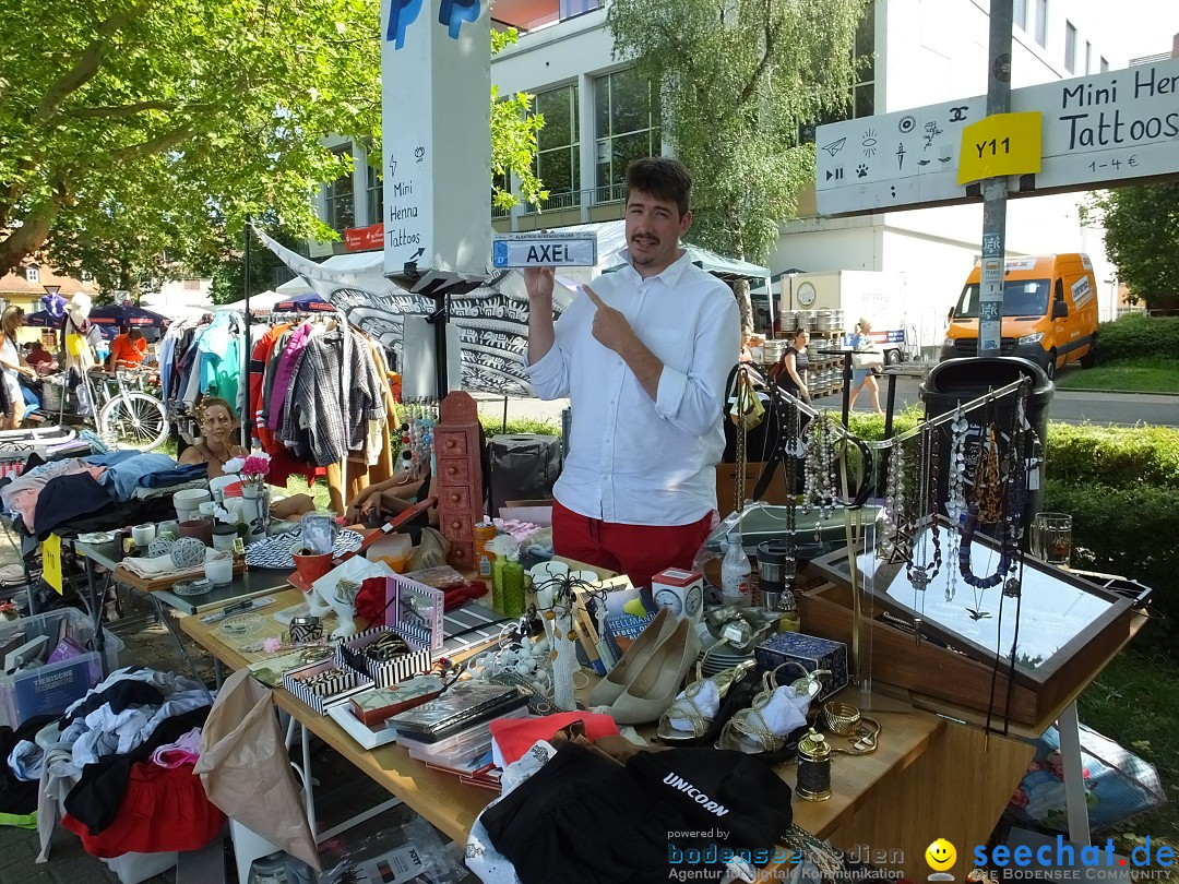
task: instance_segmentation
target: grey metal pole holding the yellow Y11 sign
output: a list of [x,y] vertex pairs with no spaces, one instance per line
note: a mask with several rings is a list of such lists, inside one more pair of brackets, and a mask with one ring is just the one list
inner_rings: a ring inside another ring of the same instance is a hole
[[[987,116],[1012,108],[1012,5],[990,0]],[[1003,258],[1007,253],[1007,179],[982,183],[982,283],[979,291],[979,356],[999,356],[1003,324]]]

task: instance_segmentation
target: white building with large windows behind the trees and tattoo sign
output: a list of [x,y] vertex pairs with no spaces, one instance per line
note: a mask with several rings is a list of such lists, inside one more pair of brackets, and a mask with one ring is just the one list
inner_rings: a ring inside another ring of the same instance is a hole
[[[518,206],[493,219],[499,231],[560,227],[621,217],[621,176],[630,159],[670,152],[658,98],[613,57],[606,26],[608,0],[499,0],[501,25],[520,28],[516,45],[496,55],[492,79],[500,94],[529,92],[545,114],[536,167],[549,191],[536,211]],[[857,38],[869,58],[851,100],[851,114],[868,117],[986,92],[989,0],[875,0]],[[1013,86],[1028,86],[1124,67],[1102,44],[1079,0],[1015,0]],[[318,194],[321,217],[332,227],[380,220],[381,187],[362,145],[350,151],[350,178]],[[507,184],[507,183],[505,183]],[[1012,200],[1007,249],[1014,256],[1087,252],[1094,262],[1102,318],[1117,311],[1114,269],[1102,231],[1081,222],[1084,193]],[[979,258],[981,205],[822,218],[814,190],[799,194],[798,217],[782,225],[769,257],[775,275],[799,269],[900,272],[913,304],[910,328],[934,345],[944,317]],[[342,251],[342,244],[335,245]],[[332,251],[321,244],[312,255]],[[777,292],[776,292],[777,295]]]

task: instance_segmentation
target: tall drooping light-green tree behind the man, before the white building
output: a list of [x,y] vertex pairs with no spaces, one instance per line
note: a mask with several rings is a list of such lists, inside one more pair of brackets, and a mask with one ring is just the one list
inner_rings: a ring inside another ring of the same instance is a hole
[[664,124],[691,170],[691,240],[765,260],[814,182],[799,130],[845,111],[868,0],[612,0],[614,54],[659,84]]

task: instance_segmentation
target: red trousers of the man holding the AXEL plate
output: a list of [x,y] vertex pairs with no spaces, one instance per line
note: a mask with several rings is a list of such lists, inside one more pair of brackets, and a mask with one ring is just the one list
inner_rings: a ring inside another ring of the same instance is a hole
[[689,525],[623,525],[590,519],[553,501],[553,552],[573,561],[626,574],[638,587],[664,568],[691,569],[716,513]]

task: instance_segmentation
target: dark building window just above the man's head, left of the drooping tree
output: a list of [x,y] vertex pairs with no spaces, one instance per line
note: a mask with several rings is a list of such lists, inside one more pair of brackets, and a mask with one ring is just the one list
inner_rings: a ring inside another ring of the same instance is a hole
[[627,164],[663,152],[659,123],[659,93],[633,68],[595,80],[598,167],[594,184],[598,192],[594,202],[621,199]]

